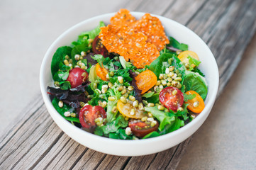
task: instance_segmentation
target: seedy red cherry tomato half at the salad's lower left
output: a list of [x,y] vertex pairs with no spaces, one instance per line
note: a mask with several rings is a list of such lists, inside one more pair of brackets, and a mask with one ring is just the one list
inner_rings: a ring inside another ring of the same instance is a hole
[[79,120],[84,128],[95,128],[96,123],[94,120],[100,117],[103,119],[106,118],[106,112],[101,106],[93,107],[91,105],[87,105],[84,106],[79,113]]

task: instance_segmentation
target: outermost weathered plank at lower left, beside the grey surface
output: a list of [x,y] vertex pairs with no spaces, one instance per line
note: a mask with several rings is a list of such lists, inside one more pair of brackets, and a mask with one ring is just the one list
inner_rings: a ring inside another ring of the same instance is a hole
[[26,121],[26,125],[18,129],[16,135],[1,149],[3,162],[0,163],[0,169],[2,167],[14,168],[26,156],[27,152],[30,152],[30,149],[40,141],[43,134],[52,124],[49,115],[42,114],[43,111],[45,111],[45,108],[42,107],[36,111],[36,114],[33,114]]

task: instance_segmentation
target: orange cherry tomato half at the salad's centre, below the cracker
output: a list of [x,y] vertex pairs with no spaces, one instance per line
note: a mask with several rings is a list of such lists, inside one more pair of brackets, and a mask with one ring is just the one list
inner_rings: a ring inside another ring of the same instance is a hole
[[157,83],[157,76],[152,71],[145,70],[138,74],[138,76],[135,77],[135,80],[138,89],[142,90],[141,94],[144,94],[146,91],[151,89],[152,86],[155,86]]

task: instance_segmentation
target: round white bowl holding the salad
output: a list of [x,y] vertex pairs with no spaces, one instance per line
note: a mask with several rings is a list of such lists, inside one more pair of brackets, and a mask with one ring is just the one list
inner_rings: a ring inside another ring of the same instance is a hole
[[[206,81],[208,83],[208,95],[205,101],[206,107],[204,108],[204,111],[191,121],[191,123],[188,123],[179,130],[160,137],[153,137],[145,140],[114,140],[106,137],[100,137],[75,127],[65,120],[65,118],[62,118],[62,116],[57,113],[55,108],[52,106],[47,94],[47,86],[52,86],[53,79],[50,71],[50,64],[52,56],[57,48],[64,45],[70,45],[72,41],[77,40],[77,36],[80,33],[86,30],[92,30],[98,26],[99,21],[104,21],[104,23],[108,24],[111,16],[114,14],[115,13],[108,13],[78,23],[65,31],[65,33],[62,33],[62,35],[52,43],[45,54],[40,69],[40,89],[43,95],[43,100],[45,101],[45,106],[55,123],[57,123],[60,129],[69,135],[69,137],[80,144],[99,152],[118,156],[139,156],[161,152],[165,149],[169,149],[170,147],[174,147],[196,132],[202,123],[204,123],[204,120],[206,120],[216,98],[219,77],[216,60],[204,41],[201,40],[201,38],[199,38],[199,36],[194,32],[189,30],[189,28],[170,20],[169,18],[157,16],[165,27],[167,35],[174,37],[179,42],[188,44],[189,50],[192,50],[199,55],[201,60],[200,69],[206,75]],[[132,14],[135,18],[140,18],[145,13],[132,12]]]

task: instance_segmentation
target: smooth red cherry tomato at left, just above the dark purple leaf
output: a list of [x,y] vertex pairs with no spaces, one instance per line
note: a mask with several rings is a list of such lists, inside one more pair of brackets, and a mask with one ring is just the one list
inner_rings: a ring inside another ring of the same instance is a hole
[[70,82],[71,88],[81,85],[88,78],[88,73],[84,69],[74,68],[69,71],[67,81]]

